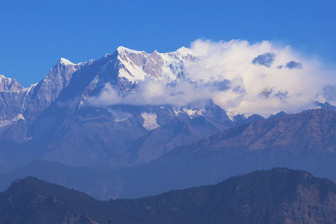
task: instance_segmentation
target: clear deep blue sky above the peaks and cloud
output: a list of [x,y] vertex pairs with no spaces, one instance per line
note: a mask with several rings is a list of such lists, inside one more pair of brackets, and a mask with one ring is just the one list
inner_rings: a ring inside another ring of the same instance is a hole
[[0,73],[26,87],[61,57],[168,52],[199,38],[275,41],[334,64],[335,11],[336,0],[0,0]]

